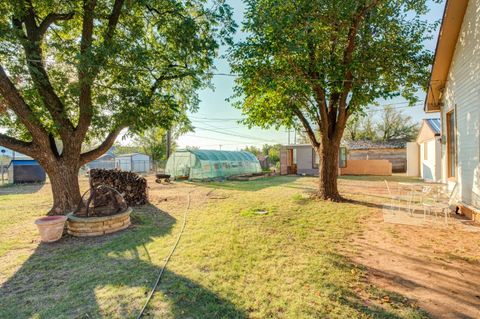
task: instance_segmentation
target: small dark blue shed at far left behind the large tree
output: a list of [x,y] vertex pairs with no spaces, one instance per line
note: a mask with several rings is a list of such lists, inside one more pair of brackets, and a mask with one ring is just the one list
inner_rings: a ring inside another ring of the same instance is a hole
[[33,159],[14,159],[8,166],[9,183],[44,183],[46,173]]

